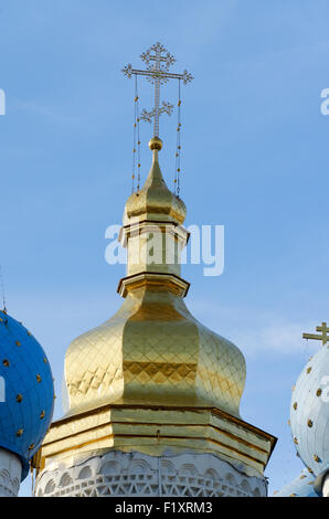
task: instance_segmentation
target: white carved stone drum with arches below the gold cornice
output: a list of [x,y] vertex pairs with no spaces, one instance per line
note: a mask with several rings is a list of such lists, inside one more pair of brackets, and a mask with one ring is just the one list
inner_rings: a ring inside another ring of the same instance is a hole
[[112,451],[38,477],[36,497],[265,497],[265,478],[247,476],[213,454],[152,457]]

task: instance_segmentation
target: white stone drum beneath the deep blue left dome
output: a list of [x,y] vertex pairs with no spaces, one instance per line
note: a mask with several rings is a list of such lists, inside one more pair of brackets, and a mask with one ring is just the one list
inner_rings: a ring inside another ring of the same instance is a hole
[[22,465],[15,454],[0,448],[0,497],[17,497],[20,489]]

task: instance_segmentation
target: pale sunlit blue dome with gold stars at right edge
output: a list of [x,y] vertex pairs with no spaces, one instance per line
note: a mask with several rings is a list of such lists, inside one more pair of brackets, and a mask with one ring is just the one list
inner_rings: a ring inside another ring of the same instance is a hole
[[290,427],[309,472],[329,468],[329,347],[322,346],[303,370],[293,391]]

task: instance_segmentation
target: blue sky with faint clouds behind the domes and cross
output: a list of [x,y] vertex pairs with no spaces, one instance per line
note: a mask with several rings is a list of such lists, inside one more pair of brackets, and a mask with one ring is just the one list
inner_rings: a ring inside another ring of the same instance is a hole
[[[131,189],[134,83],[120,70],[159,40],[195,77],[183,87],[187,224],[225,225],[224,274],[184,267],[187,303],[245,354],[242,416],[279,438],[270,491],[298,474],[291,386],[320,347],[301,332],[329,321],[328,23],[326,0],[0,1],[0,263],[9,313],[51,359],[55,417],[67,346],[121,303],[125,267],[104,258]],[[150,107],[147,82],[140,99]],[[172,186],[176,115],[161,128]]]

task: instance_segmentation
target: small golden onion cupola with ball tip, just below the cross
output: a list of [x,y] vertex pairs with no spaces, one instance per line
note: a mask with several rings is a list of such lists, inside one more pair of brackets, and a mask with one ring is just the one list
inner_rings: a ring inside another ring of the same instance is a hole
[[187,216],[185,204],[166,186],[158,162],[158,151],[162,148],[161,139],[152,138],[149,147],[153,151],[152,166],[144,188],[132,193],[126,203],[124,225],[142,220],[182,224]]

